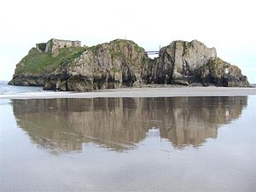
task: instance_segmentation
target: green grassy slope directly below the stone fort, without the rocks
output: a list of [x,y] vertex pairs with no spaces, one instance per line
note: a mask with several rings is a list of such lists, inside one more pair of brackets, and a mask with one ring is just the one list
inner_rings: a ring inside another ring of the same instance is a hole
[[52,73],[61,65],[65,65],[84,52],[83,47],[63,48],[57,56],[53,57],[49,53],[41,53],[36,48],[32,48],[17,66],[15,73],[41,74]]

